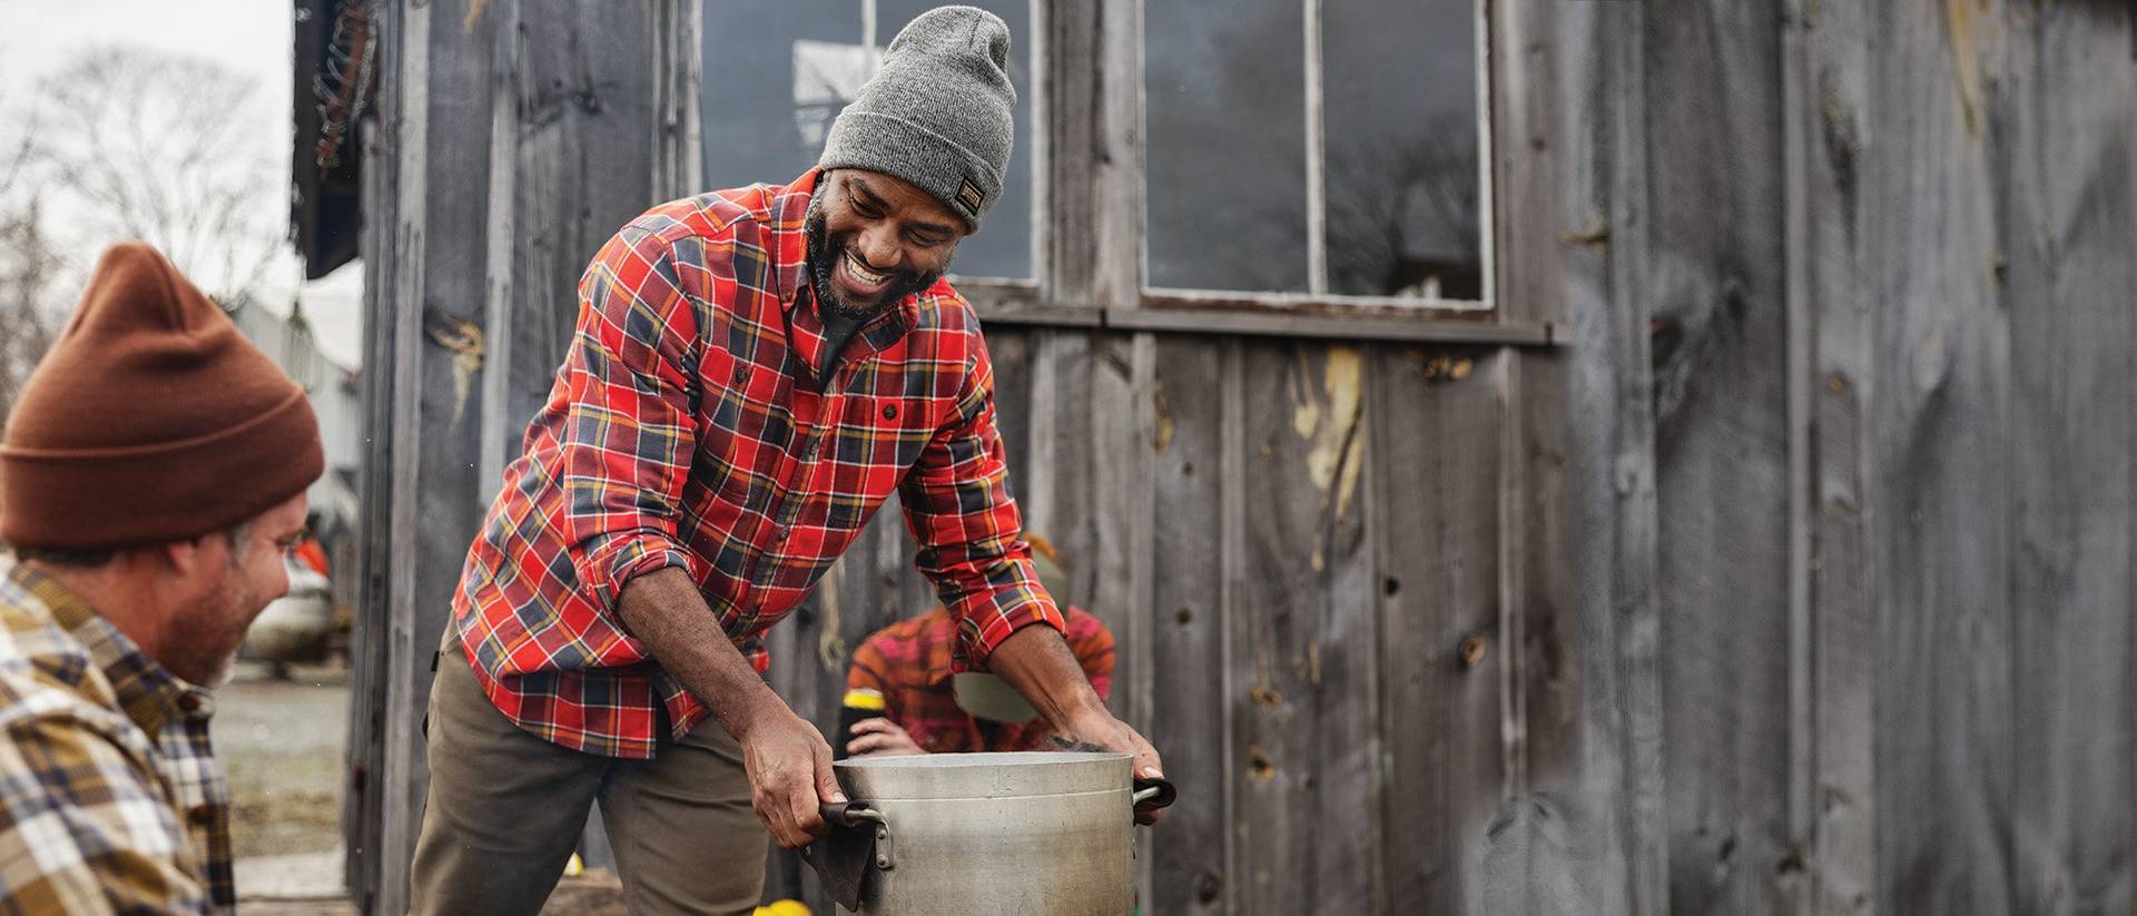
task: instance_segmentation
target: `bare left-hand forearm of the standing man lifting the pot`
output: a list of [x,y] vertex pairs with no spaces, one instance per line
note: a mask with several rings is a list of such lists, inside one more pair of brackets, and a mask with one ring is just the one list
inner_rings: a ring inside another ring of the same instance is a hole
[[624,628],[729,735],[742,737],[765,713],[786,711],[786,702],[720,630],[720,619],[682,568],[669,566],[624,583],[618,613]]

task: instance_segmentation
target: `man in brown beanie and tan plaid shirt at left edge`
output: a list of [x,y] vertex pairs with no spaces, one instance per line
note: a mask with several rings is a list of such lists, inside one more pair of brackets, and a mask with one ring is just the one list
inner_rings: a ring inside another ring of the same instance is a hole
[[207,688],[325,470],[303,391],[147,246],[105,254],[0,444],[0,912],[229,912]]

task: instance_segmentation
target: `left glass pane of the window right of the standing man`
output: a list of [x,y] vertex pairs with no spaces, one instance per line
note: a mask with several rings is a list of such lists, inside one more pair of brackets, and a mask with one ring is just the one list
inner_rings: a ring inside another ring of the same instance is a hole
[[1299,0],[1143,6],[1150,286],[1306,290]]

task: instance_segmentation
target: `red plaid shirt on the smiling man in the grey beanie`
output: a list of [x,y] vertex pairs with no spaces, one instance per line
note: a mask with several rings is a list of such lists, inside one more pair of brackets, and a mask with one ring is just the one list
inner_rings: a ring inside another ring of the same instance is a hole
[[906,297],[816,378],[814,186],[810,171],[654,207],[579,280],[571,350],[453,600],[477,679],[521,728],[652,756],[662,709],[677,737],[705,709],[624,632],[624,583],[684,568],[765,670],[763,632],[891,491],[962,623],[955,664],[1026,623],[1062,626],[1032,574],[964,297],[947,282]]

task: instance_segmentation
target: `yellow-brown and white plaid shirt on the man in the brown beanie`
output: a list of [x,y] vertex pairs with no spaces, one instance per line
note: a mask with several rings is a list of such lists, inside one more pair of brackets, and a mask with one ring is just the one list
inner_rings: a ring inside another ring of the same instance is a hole
[[214,702],[0,555],[0,912],[231,912]]

